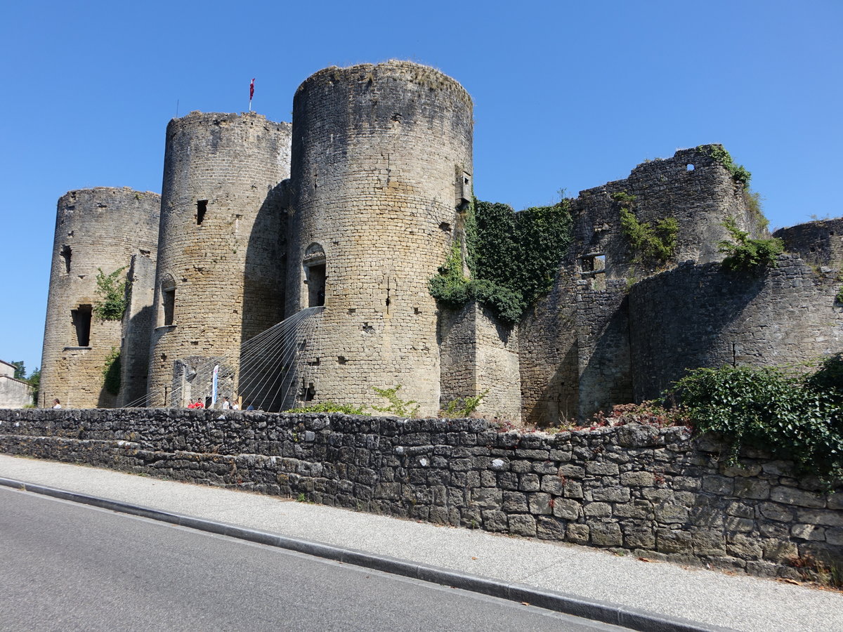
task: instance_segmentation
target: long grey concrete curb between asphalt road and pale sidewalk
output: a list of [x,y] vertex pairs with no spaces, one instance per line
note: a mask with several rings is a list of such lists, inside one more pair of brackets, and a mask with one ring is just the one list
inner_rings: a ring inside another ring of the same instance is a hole
[[34,485],[21,480],[0,478],[0,485],[16,490],[30,491],[58,498],[63,501],[78,502],[84,505],[99,507],[110,511],[118,511],[131,516],[149,518],[159,522],[169,522],[180,527],[217,533],[229,538],[239,538],[267,544],[280,549],[287,549],[297,553],[314,555],[326,560],[335,560],[344,564],[362,566],[385,573],[411,577],[421,581],[429,581],[442,586],[453,586],[466,591],[479,592],[490,597],[507,599],[508,601],[526,602],[530,605],[559,613],[571,614],[583,619],[593,619],[606,624],[620,625],[629,629],[644,630],[645,632],[727,632],[729,628],[721,628],[692,621],[671,617],[665,614],[651,613],[638,608],[621,606],[616,603],[588,599],[568,595],[564,592],[548,591],[526,584],[497,581],[486,577],[470,575],[459,570],[448,570],[437,566],[416,564],[406,560],[398,560],[387,555],[378,555],[341,549],[330,544],[309,542],[298,538],[287,538],[276,533],[266,533],[255,529],[237,527],[224,522],[214,522],[203,518],[182,516],[170,511],[160,511],[151,507],[132,505],[121,501],[111,501],[107,498],[78,494],[77,492],[59,490],[44,485]]

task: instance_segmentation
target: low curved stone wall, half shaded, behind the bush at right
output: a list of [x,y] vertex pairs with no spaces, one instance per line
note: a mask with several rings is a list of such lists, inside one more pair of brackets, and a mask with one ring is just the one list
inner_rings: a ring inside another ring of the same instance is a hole
[[837,270],[797,255],[760,273],[679,265],[631,288],[635,399],[652,399],[685,368],[797,364],[843,351]]

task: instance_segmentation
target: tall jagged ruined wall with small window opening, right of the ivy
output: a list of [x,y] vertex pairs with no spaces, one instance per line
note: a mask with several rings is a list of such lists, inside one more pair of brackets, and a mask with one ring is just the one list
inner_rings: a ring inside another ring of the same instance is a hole
[[[728,217],[750,233],[763,232],[743,186],[708,153],[709,147],[696,147],[642,163],[628,178],[584,190],[572,201],[572,246],[556,287],[519,327],[524,420],[540,426],[583,420],[627,401],[632,392],[638,367],[631,363],[626,334],[626,292],[660,270],[631,249],[620,226],[622,207],[642,223],[676,220],[668,267],[721,260],[717,244],[728,238],[722,226]],[[634,195],[635,201],[613,194]],[[534,384],[547,386],[536,393]]]

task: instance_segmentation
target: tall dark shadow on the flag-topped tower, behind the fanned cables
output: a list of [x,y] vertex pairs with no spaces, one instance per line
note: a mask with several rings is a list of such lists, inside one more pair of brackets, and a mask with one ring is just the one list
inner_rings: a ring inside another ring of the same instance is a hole
[[[284,319],[285,279],[287,273],[287,216],[285,201],[288,181],[267,191],[260,205],[249,236],[244,263],[243,313],[240,335],[245,343]],[[265,357],[260,357],[260,354]],[[255,355],[259,354],[259,355]],[[282,364],[280,352],[265,348],[250,349],[240,357],[239,381],[248,379],[250,393],[239,393],[245,399],[261,401],[268,390],[279,388]],[[250,375],[245,375],[245,373]],[[279,410],[278,403],[275,410]]]

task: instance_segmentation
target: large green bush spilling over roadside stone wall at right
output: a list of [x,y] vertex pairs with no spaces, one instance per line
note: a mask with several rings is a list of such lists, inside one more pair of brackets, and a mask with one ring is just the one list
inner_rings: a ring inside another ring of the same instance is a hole
[[816,474],[826,485],[843,479],[840,357],[808,377],[780,368],[722,367],[690,371],[671,394],[697,431],[729,444],[728,462],[756,447]]

